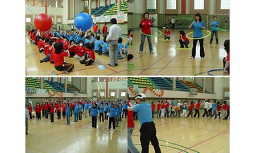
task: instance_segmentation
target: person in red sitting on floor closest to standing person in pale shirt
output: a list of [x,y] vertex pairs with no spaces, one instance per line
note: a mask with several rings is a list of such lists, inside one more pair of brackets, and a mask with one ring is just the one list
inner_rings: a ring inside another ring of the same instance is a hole
[[85,44],[85,56],[79,60],[81,64],[85,64],[85,66],[92,65],[95,61],[95,54],[94,54],[94,45],[90,43]]

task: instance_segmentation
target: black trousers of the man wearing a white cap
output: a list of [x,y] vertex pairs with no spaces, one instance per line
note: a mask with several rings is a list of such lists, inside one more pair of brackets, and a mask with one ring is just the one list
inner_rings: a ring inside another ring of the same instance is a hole
[[160,153],[160,147],[158,138],[156,137],[156,129],[154,122],[146,122],[141,125],[141,129],[139,129],[141,133],[141,147],[142,153],[148,153],[149,143],[151,142],[152,146],[155,149],[156,153]]

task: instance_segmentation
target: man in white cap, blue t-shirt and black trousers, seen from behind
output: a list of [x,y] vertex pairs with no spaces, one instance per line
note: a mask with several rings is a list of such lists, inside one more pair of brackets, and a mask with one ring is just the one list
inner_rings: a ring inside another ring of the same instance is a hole
[[155,149],[156,153],[160,153],[160,147],[158,138],[156,137],[155,124],[152,118],[151,106],[146,103],[146,95],[138,94],[135,99],[138,104],[134,104],[133,107],[128,107],[128,111],[134,111],[138,113],[139,123],[141,124],[141,147],[142,153],[148,153],[149,143],[151,142],[152,146]]

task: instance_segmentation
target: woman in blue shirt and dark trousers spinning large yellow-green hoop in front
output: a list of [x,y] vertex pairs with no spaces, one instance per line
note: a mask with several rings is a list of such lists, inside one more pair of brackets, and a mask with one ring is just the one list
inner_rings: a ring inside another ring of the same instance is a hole
[[[205,24],[201,18],[201,15],[197,13],[195,15],[195,21],[191,23],[188,27],[189,29],[193,28],[193,38],[200,38],[203,37],[203,29],[205,29]],[[199,40],[200,44],[200,57],[204,59],[204,39],[194,39],[193,40],[193,48],[192,48],[192,55],[191,59],[196,57],[196,43]]]

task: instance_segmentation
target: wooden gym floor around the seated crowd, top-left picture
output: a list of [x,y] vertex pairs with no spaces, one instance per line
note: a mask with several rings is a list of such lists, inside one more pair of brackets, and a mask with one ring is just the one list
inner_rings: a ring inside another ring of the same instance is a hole
[[[101,36],[101,35],[100,35]],[[123,38],[123,45],[127,42],[127,37]],[[55,71],[56,75],[127,75],[127,58],[123,56],[124,59],[118,59],[118,66],[110,67],[108,63],[110,62],[109,57],[99,56],[96,54],[96,60],[98,63],[104,63],[106,69],[100,69],[97,67],[97,63],[93,63],[90,66],[84,66],[75,58],[65,57],[67,63],[73,63],[75,65],[74,69],[70,74],[63,74],[61,71],[57,71],[53,64],[49,62],[40,63],[40,59],[45,58],[43,53],[38,52],[38,47],[32,45],[28,40],[28,35],[26,32],[26,75],[50,75],[51,69]]]

